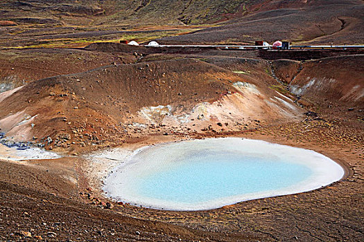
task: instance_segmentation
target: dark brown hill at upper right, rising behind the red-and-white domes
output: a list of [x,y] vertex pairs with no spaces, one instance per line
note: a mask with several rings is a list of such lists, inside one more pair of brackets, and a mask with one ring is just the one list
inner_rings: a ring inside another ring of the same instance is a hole
[[[363,44],[364,1],[266,1],[257,11],[223,26],[190,35],[166,37],[168,43],[254,43],[283,39],[306,44]],[[304,4],[306,2],[306,4]],[[252,6],[254,8],[254,6]]]

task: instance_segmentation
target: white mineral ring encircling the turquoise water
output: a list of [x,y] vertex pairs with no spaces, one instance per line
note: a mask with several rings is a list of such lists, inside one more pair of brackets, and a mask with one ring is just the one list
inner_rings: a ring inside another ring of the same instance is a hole
[[[281,189],[271,190],[268,192],[254,192],[252,194],[241,194],[238,196],[228,196],[216,198],[202,203],[187,204],[175,201],[161,201],[159,199],[144,197],[136,191],[133,186],[133,180],[138,177],[156,172],[159,167],[171,162],[176,156],[183,156],[189,153],[189,147],[208,149],[211,146],[219,149],[238,149],[247,152],[261,152],[263,156],[277,156],[285,158],[299,165],[304,165],[311,169],[312,174],[299,183],[284,187]],[[172,148],[178,149],[172,149]],[[259,151],[257,151],[259,147]],[[121,151],[121,150],[119,150]],[[130,152],[130,151],[129,151]],[[164,143],[154,146],[142,147],[133,153],[126,154],[121,151],[113,153],[114,157],[122,157],[119,165],[114,165],[114,169],[104,180],[103,190],[105,195],[114,198],[116,201],[123,201],[143,207],[152,207],[163,210],[211,210],[225,205],[232,205],[242,201],[248,201],[258,198],[267,198],[272,196],[281,196],[287,194],[297,194],[308,192],[327,186],[343,178],[345,171],[330,158],[309,149],[301,149],[286,145],[277,145],[262,140],[249,140],[242,138],[208,138],[205,140],[184,140],[181,142]],[[96,157],[94,157],[96,158]],[[117,159],[118,160],[118,159]]]

